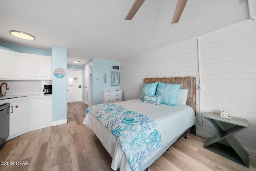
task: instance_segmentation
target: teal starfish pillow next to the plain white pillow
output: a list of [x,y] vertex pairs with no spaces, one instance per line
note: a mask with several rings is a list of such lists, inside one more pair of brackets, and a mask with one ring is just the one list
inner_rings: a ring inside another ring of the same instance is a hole
[[176,99],[181,84],[167,84],[159,82],[156,89],[156,95],[162,95],[161,103],[176,106]]

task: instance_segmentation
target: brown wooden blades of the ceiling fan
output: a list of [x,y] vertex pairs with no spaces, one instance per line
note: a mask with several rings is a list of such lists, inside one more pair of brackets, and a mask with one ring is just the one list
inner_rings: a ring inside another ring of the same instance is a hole
[[[134,17],[136,12],[140,9],[140,6],[142,6],[144,1],[145,0],[136,0],[124,20],[132,20],[132,18]],[[174,16],[172,18],[171,25],[176,23],[176,22],[179,22],[180,16],[181,16],[181,14],[182,14],[182,12],[185,8],[185,5],[186,5],[187,1],[188,0],[179,0],[178,1],[178,4],[176,6],[176,10],[174,12]]]

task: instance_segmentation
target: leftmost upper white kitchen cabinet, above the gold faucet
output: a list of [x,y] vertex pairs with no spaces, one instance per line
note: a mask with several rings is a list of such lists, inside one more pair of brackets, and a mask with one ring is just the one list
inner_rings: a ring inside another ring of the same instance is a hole
[[0,49],[0,80],[16,78],[16,52]]

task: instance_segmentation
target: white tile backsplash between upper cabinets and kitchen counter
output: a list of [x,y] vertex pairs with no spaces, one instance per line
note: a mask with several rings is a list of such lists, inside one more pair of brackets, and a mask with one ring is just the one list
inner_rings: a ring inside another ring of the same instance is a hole
[[45,84],[52,84],[52,81],[0,81],[0,84],[6,82],[9,90],[6,90],[6,85],[3,85],[2,93],[6,91],[6,95],[28,95],[28,94],[43,94]]

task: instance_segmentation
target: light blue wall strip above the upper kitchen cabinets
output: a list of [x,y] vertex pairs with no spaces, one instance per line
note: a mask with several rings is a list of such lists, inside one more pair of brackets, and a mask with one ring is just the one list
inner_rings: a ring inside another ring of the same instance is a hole
[[2,42],[0,42],[0,46],[13,49],[16,52],[20,52],[20,53],[52,56],[52,51],[51,50],[30,48],[30,47],[27,47],[27,46],[20,46],[20,45],[16,45],[16,44],[7,44],[7,43],[2,43]]

